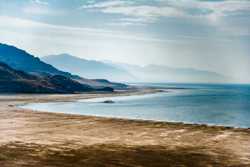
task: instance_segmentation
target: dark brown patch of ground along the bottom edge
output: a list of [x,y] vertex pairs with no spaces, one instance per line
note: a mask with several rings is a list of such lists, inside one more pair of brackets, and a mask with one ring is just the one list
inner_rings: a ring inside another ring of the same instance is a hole
[[91,145],[78,149],[65,146],[9,143],[0,147],[1,167],[209,167],[230,165],[223,155],[206,153],[203,148],[162,146]]

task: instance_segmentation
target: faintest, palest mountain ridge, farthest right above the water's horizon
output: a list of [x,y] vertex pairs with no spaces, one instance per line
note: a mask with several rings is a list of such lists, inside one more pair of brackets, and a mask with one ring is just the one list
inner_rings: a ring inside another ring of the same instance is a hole
[[232,78],[216,72],[192,68],[171,68],[160,65],[137,66],[113,62],[106,63],[129,71],[136,76],[137,81],[140,82],[226,83],[232,80]]

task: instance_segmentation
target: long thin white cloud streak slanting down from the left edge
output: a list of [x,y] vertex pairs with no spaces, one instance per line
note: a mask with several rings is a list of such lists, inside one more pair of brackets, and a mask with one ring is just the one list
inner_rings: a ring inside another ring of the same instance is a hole
[[9,16],[0,16],[0,30],[13,30],[27,31],[27,33],[45,33],[48,36],[59,37],[59,36],[71,36],[71,38],[84,38],[86,36],[92,37],[103,37],[103,38],[114,38],[123,40],[134,40],[134,41],[147,41],[147,42],[169,42],[170,40],[161,40],[152,37],[146,37],[143,34],[126,33],[121,31],[111,31],[105,29],[96,28],[83,28],[83,27],[69,27],[62,25],[52,25],[41,23],[37,21],[14,18]]

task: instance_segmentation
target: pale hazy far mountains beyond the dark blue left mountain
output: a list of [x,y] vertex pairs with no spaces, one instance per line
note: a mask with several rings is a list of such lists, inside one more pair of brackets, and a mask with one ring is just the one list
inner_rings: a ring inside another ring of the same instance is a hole
[[89,78],[107,78],[122,82],[198,82],[224,83],[231,78],[216,72],[192,68],[171,68],[160,65],[137,66],[110,61],[80,59],[69,54],[42,58],[46,63]]

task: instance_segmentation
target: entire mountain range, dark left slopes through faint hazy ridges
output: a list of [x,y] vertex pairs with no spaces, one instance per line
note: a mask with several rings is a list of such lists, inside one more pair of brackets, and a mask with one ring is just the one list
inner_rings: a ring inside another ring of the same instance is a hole
[[229,80],[210,71],[159,65],[141,67],[80,59],[69,54],[40,60],[24,50],[0,44],[0,93],[78,93],[130,88],[120,81],[218,83]]

